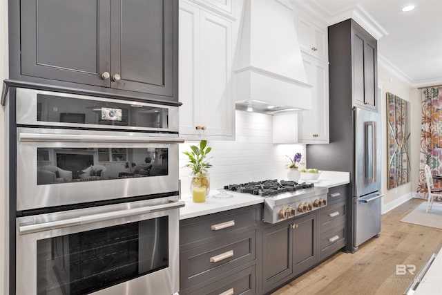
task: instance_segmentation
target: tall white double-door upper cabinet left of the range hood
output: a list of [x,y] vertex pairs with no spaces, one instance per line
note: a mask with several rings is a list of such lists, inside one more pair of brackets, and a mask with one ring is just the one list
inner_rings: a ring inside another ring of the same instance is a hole
[[233,140],[232,22],[180,1],[180,135]]

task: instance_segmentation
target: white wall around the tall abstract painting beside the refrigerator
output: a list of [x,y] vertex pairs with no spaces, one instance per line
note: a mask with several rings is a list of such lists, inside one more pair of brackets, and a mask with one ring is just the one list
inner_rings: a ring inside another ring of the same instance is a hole
[[[378,65],[378,79],[382,84],[381,95],[381,116],[382,116],[382,190],[385,197],[383,198],[383,206],[387,209],[397,206],[407,198],[411,198],[411,192],[416,191],[417,188],[417,175],[419,173],[419,146],[420,146],[420,115],[421,105],[420,100],[416,99],[413,93],[413,89],[407,83],[399,79],[392,71]],[[403,184],[400,187],[394,189],[387,189],[388,174],[387,174],[387,95],[390,92],[401,99],[405,99],[410,102],[410,151],[408,155],[410,157],[411,166],[411,182]],[[384,210],[385,211],[385,210]]]

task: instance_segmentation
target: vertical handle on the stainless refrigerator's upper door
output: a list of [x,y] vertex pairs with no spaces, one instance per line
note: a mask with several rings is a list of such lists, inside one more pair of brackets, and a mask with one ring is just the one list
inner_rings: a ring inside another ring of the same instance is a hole
[[377,138],[376,138],[376,122],[365,122],[365,178],[367,182],[376,182],[377,175]]

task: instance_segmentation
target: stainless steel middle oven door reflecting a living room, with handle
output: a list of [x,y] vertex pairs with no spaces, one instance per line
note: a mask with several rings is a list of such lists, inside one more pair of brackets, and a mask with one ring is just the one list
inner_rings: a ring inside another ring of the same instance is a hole
[[160,133],[18,128],[17,211],[177,192],[180,142]]

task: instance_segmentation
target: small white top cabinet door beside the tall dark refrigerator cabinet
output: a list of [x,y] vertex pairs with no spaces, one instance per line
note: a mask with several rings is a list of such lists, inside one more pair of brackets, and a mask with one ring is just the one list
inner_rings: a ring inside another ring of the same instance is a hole
[[310,18],[302,15],[302,12],[298,12],[296,17],[298,41],[301,50],[313,57],[327,61],[327,26],[316,25]]

